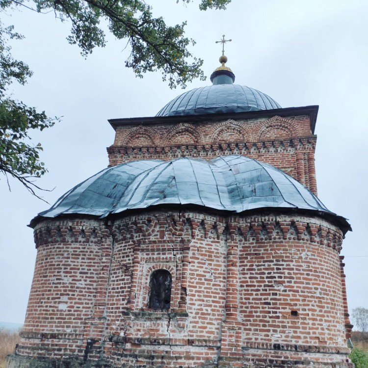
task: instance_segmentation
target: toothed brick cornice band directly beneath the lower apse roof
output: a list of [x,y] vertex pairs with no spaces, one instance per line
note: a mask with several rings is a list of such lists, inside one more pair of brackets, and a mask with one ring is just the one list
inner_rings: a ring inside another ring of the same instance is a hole
[[[105,227],[103,220],[94,221],[91,228],[86,222],[82,228],[75,225],[82,220],[80,216],[75,223],[69,220],[68,227],[60,226],[59,224],[62,223],[60,219],[45,219],[35,227],[34,237],[36,247],[52,243],[81,243],[82,245],[82,243],[95,242],[97,245],[103,241],[109,241],[108,239],[112,235],[115,242],[130,238],[138,248],[144,248],[146,246],[145,240],[149,239],[151,246],[157,244],[160,248],[165,247],[167,241],[170,243],[170,239],[175,239],[178,244],[182,244],[180,246],[182,247],[189,238],[197,237],[198,232],[204,238],[220,238],[225,233],[227,234],[230,229],[230,234],[227,236],[231,238],[241,236],[247,241],[248,237],[254,237],[254,241],[258,242],[270,240],[273,237],[278,241],[288,241],[290,240],[290,232],[294,231],[295,240],[325,245],[337,252],[341,250],[342,231],[332,225],[328,219],[322,219],[319,216],[312,217],[307,213],[304,214],[303,211],[298,214],[292,209],[272,210],[269,213],[264,213],[264,210],[253,210],[253,212],[255,213],[224,216],[223,213],[216,215],[213,212],[210,214],[194,210],[178,213],[166,208],[111,217],[109,228]],[[162,213],[165,215],[162,216]],[[54,236],[55,229],[61,229],[63,236]],[[85,231],[85,238],[81,237],[82,230]],[[161,237],[162,231],[165,232],[165,239]],[[67,232],[73,232],[73,234],[68,237]]]

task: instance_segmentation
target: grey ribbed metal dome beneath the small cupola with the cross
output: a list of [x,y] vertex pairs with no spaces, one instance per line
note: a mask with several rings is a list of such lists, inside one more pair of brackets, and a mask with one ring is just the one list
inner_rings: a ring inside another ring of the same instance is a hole
[[156,116],[271,110],[281,106],[266,94],[239,84],[215,84],[184,92]]

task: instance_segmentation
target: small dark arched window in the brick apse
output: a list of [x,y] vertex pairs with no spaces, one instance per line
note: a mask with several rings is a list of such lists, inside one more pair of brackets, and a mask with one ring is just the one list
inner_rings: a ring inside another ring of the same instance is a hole
[[170,309],[171,273],[169,271],[158,269],[152,273],[149,295],[148,308],[154,310]]

